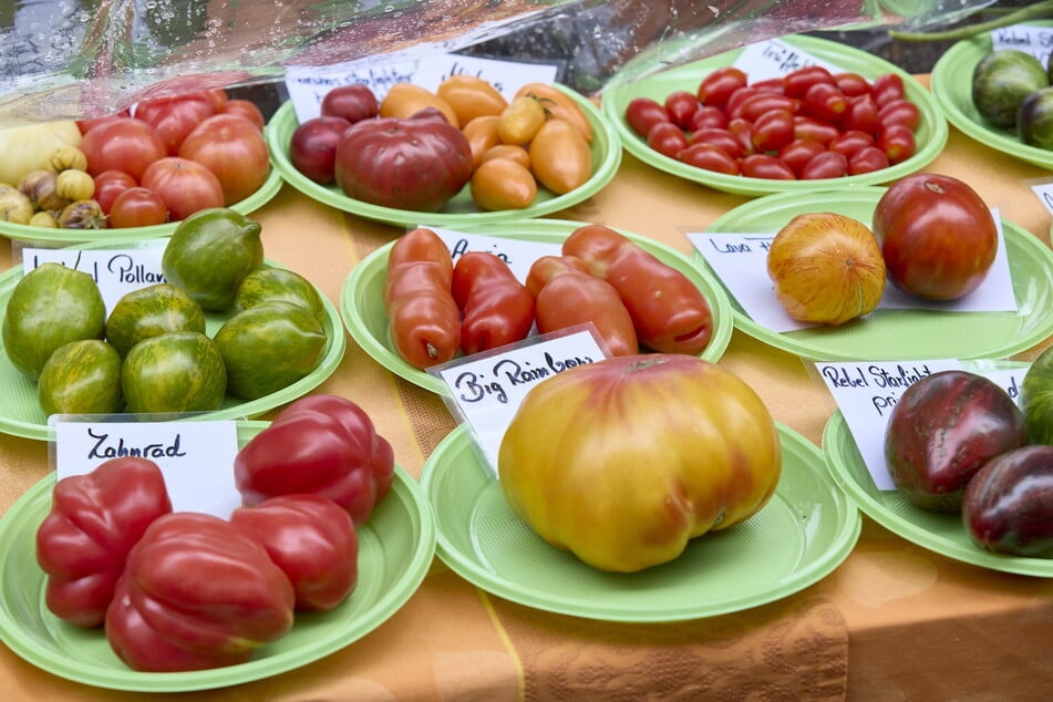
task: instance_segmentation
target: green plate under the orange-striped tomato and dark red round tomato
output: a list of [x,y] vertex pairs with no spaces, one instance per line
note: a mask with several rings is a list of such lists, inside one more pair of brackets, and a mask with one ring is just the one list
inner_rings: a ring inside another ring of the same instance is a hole
[[[782,193],[750,200],[710,225],[709,231],[774,234],[795,215],[832,211],[869,226],[885,193],[880,187],[827,193]],[[1053,333],[1053,251],[1037,237],[1002,220],[1015,312],[876,310],[840,327],[786,333],[754,322],[732,297],[735,326],[761,341],[823,361],[894,361],[1009,357]],[[695,252],[699,259],[702,255]],[[729,296],[731,297],[731,296]]]

